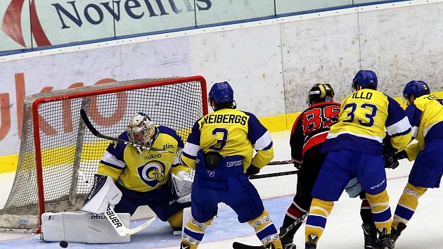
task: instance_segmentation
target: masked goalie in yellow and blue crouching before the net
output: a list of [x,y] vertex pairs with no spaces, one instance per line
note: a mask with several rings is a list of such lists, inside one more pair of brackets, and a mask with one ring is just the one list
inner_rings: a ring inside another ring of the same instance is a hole
[[176,156],[184,148],[180,136],[173,129],[154,125],[145,113],[136,113],[119,138],[160,151],[110,143],[82,210],[103,213],[109,203],[115,205],[115,212],[132,215],[139,206],[148,205],[179,234],[183,209],[191,206],[192,186],[191,169],[181,165]]

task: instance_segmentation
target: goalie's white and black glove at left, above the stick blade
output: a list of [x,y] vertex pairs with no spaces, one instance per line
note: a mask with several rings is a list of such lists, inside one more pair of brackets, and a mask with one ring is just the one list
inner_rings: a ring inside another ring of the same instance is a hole
[[95,174],[94,186],[89,191],[89,195],[84,200],[83,207],[80,210],[103,214],[108,204],[113,207],[120,202],[121,198],[122,191],[115,186],[112,177]]

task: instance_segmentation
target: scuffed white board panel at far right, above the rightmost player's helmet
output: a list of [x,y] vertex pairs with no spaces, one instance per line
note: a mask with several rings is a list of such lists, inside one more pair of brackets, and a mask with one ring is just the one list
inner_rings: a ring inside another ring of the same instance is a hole
[[359,14],[361,65],[378,72],[380,90],[401,96],[407,82],[424,79],[432,91],[441,91],[443,4],[366,8]]

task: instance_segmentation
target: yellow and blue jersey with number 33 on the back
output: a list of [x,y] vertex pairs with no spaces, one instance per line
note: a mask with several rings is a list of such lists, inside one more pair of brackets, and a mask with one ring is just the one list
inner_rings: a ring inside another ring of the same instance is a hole
[[322,151],[349,149],[381,155],[386,134],[394,148],[408,145],[411,125],[404,110],[380,91],[361,89],[342,102],[338,123],[330,128]]

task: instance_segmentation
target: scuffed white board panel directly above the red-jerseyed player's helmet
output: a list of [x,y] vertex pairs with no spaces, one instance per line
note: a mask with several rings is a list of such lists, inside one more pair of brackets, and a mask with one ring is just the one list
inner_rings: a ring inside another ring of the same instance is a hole
[[359,69],[358,34],[356,13],[281,25],[287,113],[304,110],[318,82],[331,84],[335,101],[349,95]]

